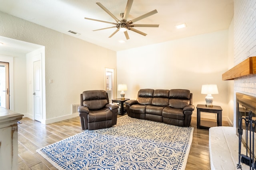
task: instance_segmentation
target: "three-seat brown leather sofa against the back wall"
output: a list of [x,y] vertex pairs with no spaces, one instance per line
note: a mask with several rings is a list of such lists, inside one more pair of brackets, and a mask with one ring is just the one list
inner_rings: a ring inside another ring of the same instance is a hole
[[189,127],[192,93],[186,89],[140,89],[137,100],[125,102],[128,116]]

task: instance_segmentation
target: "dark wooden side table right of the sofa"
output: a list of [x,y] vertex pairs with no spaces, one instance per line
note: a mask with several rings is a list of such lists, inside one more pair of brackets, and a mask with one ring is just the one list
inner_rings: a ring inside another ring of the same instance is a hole
[[200,114],[202,112],[206,113],[216,113],[217,114],[217,126],[222,126],[222,108],[220,106],[207,107],[204,104],[198,104],[196,106],[197,109],[197,129],[206,128],[216,126],[215,122],[211,121],[201,121]]

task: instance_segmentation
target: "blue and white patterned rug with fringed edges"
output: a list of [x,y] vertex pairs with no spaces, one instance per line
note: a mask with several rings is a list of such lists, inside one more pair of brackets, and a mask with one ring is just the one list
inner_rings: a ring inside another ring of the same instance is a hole
[[193,130],[125,115],[37,152],[60,170],[185,170]]

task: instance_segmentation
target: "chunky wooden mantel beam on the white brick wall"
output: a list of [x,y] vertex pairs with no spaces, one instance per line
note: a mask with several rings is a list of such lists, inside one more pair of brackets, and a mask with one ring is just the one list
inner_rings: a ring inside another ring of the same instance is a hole
[[234,80],[250,74],[256,74],[256,57],[249,57],[222,74],[222,80]]

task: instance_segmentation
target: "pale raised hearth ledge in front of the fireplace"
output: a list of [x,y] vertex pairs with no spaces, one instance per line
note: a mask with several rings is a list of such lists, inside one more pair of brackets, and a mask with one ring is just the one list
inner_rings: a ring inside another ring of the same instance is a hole
[[[238,136],[235,127],[211,127],[209,129],[209,149],[211,170],[236,170],[238,164]],[[243,145],[241,153],[246,154]],[[242,170],[250,170],[249,166],[241,165]]]

